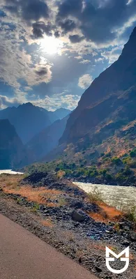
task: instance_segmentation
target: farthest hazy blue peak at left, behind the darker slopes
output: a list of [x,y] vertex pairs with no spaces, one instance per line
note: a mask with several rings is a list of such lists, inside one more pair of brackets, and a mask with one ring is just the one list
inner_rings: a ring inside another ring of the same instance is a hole
[[0,119],[8,119],[17,131],[17,134],[25,144],[31,138],[46,128],[56,120],[50,119],[47,110],[36,107],[31,103],[20,105],[19,107],[8,107],[0,111]]

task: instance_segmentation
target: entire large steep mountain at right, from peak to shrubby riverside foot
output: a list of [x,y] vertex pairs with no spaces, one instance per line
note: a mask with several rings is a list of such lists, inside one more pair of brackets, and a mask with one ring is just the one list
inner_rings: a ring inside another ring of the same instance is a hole
[[84,92],[45,161],[56,159],[56,169],[80,181],[136,185],[135,107],[136,28],[119,59]]

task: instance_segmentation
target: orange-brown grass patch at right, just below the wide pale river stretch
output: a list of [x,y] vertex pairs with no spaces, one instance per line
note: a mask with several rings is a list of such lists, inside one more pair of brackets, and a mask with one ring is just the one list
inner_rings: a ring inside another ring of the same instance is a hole
[[119,220],[119,218],[122,216],[123,213],[121,211],[117,210],[116,208],[109,206],[103,202],[98,202],[98,206],[100,207],[100,212],[89,213],[89,216],[96,220],[96,222],[101,223],[108,223],[109,221],[116,221]]

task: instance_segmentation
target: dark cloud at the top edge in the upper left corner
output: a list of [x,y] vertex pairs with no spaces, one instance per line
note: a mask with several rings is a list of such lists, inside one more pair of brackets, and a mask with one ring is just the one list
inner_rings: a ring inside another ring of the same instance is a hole
[[[17,13],[28,22],[31,20],[40,20],[40,18],[49,17],[49,8],[42,0],[6,0],[5,7],[11,13]],[[8,6],[8,3],[10,4]]]

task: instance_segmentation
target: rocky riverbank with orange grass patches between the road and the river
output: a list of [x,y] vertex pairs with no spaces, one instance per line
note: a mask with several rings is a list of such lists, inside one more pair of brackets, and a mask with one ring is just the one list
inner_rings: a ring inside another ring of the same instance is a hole
[[[130,267],[123,278],[135,278],[135,225],[123,214],[56,174],[36,172],[0,176],[0,212],[83,264],[100,278],[119,278],[105,267],[105,246],[118,252],[130,246]],[[114,268],[121,269],[121,262]]]

